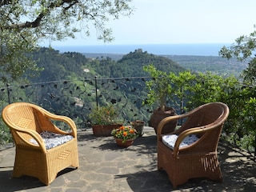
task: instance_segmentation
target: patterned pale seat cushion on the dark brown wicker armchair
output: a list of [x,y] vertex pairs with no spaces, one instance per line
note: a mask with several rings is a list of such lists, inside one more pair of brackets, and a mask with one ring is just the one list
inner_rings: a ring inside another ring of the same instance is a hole
[[[173,150],[177,138],[177,134],[166,134],[162,136],[162,142]],[[190,144],[196,141],[198,141],[198,137],[195,134],[190,134],[183,139],[183,141],[179,145],[179,148],[183,146],[189,146]]]

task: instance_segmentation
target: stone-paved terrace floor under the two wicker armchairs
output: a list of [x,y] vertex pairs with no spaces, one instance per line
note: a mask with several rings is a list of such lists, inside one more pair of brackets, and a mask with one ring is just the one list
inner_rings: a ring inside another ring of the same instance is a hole
[[226,142],[218,147],[223,182],[191,179],[173,189],[165,171],[157,170],[154,129],[145,128],[141,138],[126,149],[114,138],[96,138],[90,129],[78,132],[78,170],[66,169],[49,186],[37,178],[12,178],[14,147],[0,151],[0,189],[10,191],[256,191],[256,163],[242,150]]

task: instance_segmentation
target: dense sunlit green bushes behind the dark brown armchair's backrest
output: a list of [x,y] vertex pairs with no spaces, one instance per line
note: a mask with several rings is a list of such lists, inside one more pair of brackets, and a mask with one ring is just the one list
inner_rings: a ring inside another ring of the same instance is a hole
[[[255,88],[242,86],[234,77],[206,73],[198,74],[191,86],[187,107],[193,109],[207,102],[224,102],[230,108],[223,132],[237,146],[252,152],[255,150]],[[255,152],[254,152],[255,155]]]

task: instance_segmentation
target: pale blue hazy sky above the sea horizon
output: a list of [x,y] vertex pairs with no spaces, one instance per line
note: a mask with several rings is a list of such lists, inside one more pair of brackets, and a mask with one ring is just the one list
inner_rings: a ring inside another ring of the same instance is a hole
[[[256,0],[133,0],[130,17],[110,21],[114,42],[126,44],[230,43],[254,30]],[[104,45],[91,36],[50,42],[52,46]],[[46,42],[49,44],[49,42]]]

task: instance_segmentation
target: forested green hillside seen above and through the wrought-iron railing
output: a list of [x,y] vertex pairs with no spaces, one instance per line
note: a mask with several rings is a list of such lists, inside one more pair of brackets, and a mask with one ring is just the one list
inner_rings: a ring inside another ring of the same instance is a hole
[[[20,97],[15,96],[15,99],[23,97],[22,101],[33,101],[46,109],[54,109],[55,114],[68,114],[70,118],[78,119],[81,125],[88,122],[88,114],[96,106],[96,102],[99,106],[106,105],[106,102],[115,103],[118,110],[122,111],[122,118],[127,121],[134,120],[135,117],[147,121],[152,109],[151,106],[142,106],[148,94],[146,78],[143,77],[148,77],[149,74],[142,67],[153,63],[159,70],[166,72],[178,73],[184,70],[178,62],[167,56],[148,54],[140,49],[122,55],[117,60],[105,56],[89,58],[74,52],[60,54],[58,50],[48,48],[42,48],[30,56],[44,70],[36,77],[30,77],[26,71],[26,78],[32,82],[31,86],[20,86],[21,82],[16,82],[21,89],[18,90]],[[185,57],[179,61],[187,62],[188,67],[197,58],[202,63],[207,61],[207,65],[215,62],[213,58],[207,57]],[[97,101],[95,93],[98,93]]]

